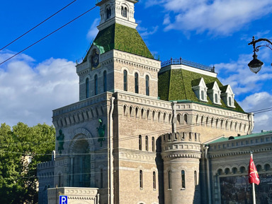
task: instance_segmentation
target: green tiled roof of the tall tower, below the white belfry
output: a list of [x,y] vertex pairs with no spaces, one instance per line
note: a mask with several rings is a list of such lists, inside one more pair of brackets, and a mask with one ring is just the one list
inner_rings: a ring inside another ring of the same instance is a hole
[[[139,32],[134,28],[118,23],[99,31],[93,44],[100,49],[101,54],[117,49],[154,59]],[[86,61],[86,56],[84,61]]]

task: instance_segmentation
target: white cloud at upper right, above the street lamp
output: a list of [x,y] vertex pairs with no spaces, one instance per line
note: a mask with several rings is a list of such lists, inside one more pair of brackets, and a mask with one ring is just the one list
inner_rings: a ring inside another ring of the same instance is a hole
[[[166,13],[167,30],[232,35],[244,25],[272,13],[271,0],[147,0],[145,6],[160,5]],[[261,12],[258,12],[261,11]]]

